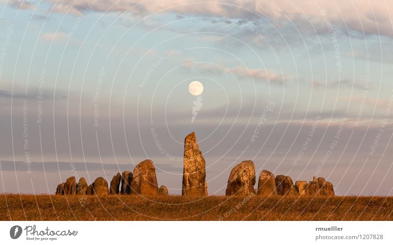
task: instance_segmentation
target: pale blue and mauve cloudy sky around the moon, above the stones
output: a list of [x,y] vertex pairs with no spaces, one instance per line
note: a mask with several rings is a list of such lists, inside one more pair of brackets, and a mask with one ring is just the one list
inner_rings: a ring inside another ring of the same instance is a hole
[[151,159],[180,194],[196,132],[212,195],[245,160],[256,178],[392,195],[392,14],[389,0],[0,0],[0,192]]

